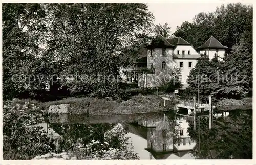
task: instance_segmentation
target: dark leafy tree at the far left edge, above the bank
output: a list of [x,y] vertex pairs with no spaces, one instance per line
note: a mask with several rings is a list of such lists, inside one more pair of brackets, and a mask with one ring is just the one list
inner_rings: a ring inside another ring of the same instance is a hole
[[44,49],[40,44],[47,33],[45,18],[40,4],[3,4],[4,99],[45,88],[47,77],[42,75],[49,75],[51,61],[41,58]]

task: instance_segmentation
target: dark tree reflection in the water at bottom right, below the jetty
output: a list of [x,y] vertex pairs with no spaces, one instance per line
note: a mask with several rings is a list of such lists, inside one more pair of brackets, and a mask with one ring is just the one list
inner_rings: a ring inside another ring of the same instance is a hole
[[[198,122],[198,121],[197,121]],[[193,131],[189,122],[191,138],[199,141],[198,125]],[[209,120],[200,120],[200,148],[191,153],[198,159],[252,159],[252,110],[233,110],[228,117],[214,119],[209,130]]]

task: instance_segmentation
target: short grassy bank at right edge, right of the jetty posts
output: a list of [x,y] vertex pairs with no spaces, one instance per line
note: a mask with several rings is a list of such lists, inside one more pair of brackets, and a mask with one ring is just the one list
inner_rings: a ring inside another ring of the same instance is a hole
[[216,109],[218,111],[230,111],[233,109],[252,109],[252,98],[243,98],[241,100],[236,99],[222,99],[216,103]]

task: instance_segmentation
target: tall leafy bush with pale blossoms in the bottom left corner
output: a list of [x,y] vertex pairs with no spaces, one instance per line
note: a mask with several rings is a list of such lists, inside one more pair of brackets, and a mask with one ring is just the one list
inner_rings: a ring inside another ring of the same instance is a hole
[[31,159],[53,151],[42,127],[31,126],[44,122],[43,111],[29,102],[11,106],[13,102],[4,102],[3,106],[3,158]]

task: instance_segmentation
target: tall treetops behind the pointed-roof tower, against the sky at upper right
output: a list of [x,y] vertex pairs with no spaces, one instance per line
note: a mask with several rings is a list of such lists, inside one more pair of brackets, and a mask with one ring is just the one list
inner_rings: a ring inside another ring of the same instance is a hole
[[252,28],[252,6],[241,3],[222,5],[215,12],[199,13],[192,22],[185,21],[177,27],[175,36],[180,36],[195,47],[202,45],[210,36],[215,36],[228,46],[239,45],[240,35]]

